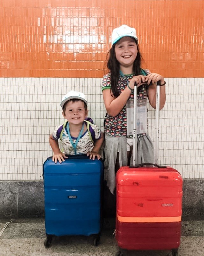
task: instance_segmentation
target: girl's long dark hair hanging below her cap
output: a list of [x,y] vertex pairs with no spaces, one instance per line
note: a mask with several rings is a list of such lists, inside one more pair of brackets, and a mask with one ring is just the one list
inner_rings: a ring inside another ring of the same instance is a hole
[[[137,40],[135,40],[136,44],[137,44],[137,57],[133,63],[133,73],[137,76],[140,75],[141,72],[141,59],[143,60],[139,47],[138,47],[138,43]],[[113,95],[115,97],[119,96],[119,92],[117,89],[117,85],[118,85],[118,80],[119,80],[119,62],[117,61],[116,57],[115,57],[115,45],[113,44],[113,46],[111,47],[110,51],[107,54],[106,60],[107,60],[107,68],[110,70],[111,72],[111,91],[113,92]]]

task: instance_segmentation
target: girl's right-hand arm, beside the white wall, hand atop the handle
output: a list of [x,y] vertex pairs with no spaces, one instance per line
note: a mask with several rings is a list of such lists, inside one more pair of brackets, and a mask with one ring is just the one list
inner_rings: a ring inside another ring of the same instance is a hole
[[[165,84],[164,77],[157,74],[157,73],[150,73],[146,77],[146,82],[149,84],[152,82],[152,85],[149,85],[147,88],[147,97],[149,99],[150,105],[156,109],[156,88],[157,82],[161,81],[161,84]],[[165,92],[165,85],[160,86],[160,110],[164,107],[166,101],[166,92]]]

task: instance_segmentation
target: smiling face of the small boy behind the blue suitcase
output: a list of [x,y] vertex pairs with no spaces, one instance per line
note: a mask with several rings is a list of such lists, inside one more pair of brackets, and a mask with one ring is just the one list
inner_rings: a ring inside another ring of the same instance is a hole
[[69,100],[66,104],[65,113],[62,115],[70,124],[82,124],[87,117],[88,110],[85,110],[84,101],[78,100],[73,102]]

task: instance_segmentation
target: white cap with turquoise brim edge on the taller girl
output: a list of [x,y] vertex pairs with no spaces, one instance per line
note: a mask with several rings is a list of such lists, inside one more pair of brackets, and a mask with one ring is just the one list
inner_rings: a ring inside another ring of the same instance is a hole
[[118,28],[113,29],[113,32],[111,35],[111,45],[115,44],[118,40],[120,40],[124,36],[133,37],[138,41],[135,28],[131,28],[127,25],[122,25]]

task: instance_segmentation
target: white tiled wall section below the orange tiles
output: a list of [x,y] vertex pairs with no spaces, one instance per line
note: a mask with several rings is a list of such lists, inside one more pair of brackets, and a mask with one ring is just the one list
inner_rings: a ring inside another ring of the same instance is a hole
[[[48,137],[62,124],[60,101],[69,90],[84,92],[89,116],[103,129],[105,108],[95,78],[0,78],[0,179],[40,180],[52,155]],[[160,112],[159,163],[183,178],[204,178],[204,78],[166,78]],[[155,111],[149,106],[154,140]]]

